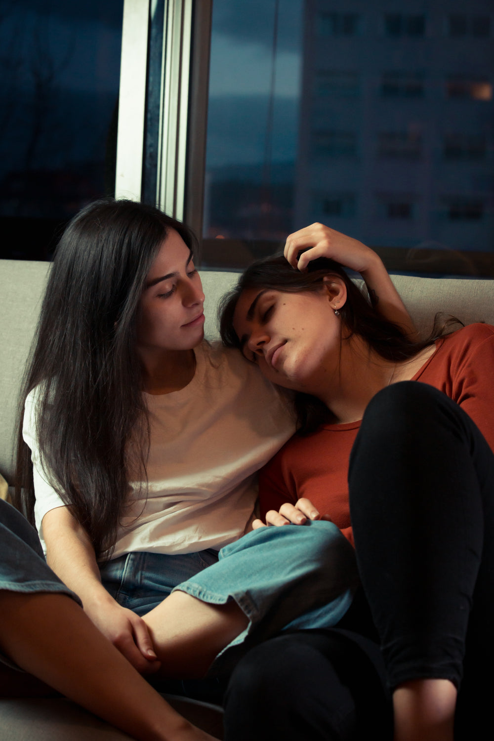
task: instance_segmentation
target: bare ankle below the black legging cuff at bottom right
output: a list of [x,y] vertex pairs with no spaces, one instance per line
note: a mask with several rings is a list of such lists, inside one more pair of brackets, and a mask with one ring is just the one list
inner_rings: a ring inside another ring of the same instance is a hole
[[395,741],[453,741],[456,688],[449,679],[415,679],[393,693]]

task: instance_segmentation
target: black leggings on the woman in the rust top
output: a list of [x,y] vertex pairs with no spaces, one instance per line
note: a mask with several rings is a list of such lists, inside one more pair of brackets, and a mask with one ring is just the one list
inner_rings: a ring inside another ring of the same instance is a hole
[[[494,644],[494,455],[447,396],[404,382],[368,405],[349,484],[358,564],[387,684],[442,677],[461,685],[458,737],[473,737],[475,724],[482,728],[482,716],[490,715],[493,691],[487,672]],[[365,737],[361,729],[370,730],[373,713],[389,718],[372,650],[358,636],[350,641],[352,634],[311,636],[273,639],[243,659],[227,694],[227,741],[346,741]],[[296,644],[298,658],[295,648],[287,650]],[[363,674],[373,688],[372,707],[362,699]],[[260,728],[270,728],[271,736]]]

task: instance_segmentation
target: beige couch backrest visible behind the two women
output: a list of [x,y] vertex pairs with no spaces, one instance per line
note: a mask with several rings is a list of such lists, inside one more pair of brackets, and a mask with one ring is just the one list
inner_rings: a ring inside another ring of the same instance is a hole
[[[47,262],[0,260],[0,473],[12,476],[13,433],[19,388],[33,340],[49,268]],[[206,294],[205,333],[218,336],[218,301],[235,285],[237,273],[203,271]],[[426,331],[438,311],[453,313],[465,324],[484,321],[494,324],[494,280],[430,279],[394,276],[420,330]]]

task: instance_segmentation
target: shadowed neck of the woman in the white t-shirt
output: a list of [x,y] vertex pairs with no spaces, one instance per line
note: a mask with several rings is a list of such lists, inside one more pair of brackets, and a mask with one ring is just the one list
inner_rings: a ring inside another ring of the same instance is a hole
[[160,395],[180,391],[196,373],[194,350],[138,350],[143,365],[143,388]]

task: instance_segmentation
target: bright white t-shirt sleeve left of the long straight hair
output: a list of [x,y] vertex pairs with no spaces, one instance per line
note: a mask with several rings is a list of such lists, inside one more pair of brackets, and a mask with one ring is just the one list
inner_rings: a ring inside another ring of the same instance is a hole
[[[24,442],[29,446],[31,451],[31,460],[33,461],[33,481],[36,503],[34,505],[34,516],[36,519],[36,528],[38,529],[39,538],[44,548],[43,533],[41,521],[47,512],[64,507],[64,502],[59,495],[47,482],[46,474],[41,465],[41,456],[39,453],[38,435],[36,434],[36,388],[27,395],[24,404],[24,419],[22,422],[22,437]],[[44,548],[44,550],[46,550]]]

